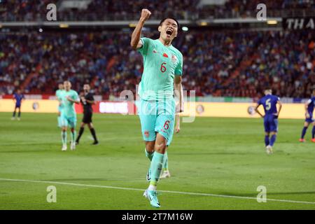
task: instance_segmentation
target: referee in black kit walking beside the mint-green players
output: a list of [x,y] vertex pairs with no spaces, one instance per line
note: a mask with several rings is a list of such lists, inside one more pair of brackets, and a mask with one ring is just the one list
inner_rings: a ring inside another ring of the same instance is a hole
[[80,102],[83,106],[83,119],[80,126],[78,138],[76,139],[76,144],[79,144],[80,137],[84,132],[84,126],[87,125],[87,127],[89,127],[90,132],[94,138],[94,142],[92,145],[97,145],[99,144],[99,141],[97,141],[96,133],[92,124],[92,114],[93,114],[92,104],[94,104],[94,96],[90,92],[89,84],[83,85],[83,90],[84,90],[84,96],[80,97]]

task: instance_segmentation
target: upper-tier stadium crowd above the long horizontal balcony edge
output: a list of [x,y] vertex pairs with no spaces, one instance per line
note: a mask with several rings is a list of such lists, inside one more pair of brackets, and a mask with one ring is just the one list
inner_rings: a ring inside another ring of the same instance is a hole
[[[227,0],[223,5],[203,6],[200,0],[92,0],[86,9],[67,8],[59,10],[57,4],[57,20],[134,20],[144,6],[154,11],[152,19],[172,15],[179,20],[197,20],[207,18],[239,18],[255,17],[258,3],[265,3],[268,16],[302,15],[313,13],[315,0]],[[46,6],[50,0],[2,0],[0,1],[0,21],[42,21],[47,13]],[[281,10],[279,10],[281,9]],[[294,14],[295,13],[295,14]]]

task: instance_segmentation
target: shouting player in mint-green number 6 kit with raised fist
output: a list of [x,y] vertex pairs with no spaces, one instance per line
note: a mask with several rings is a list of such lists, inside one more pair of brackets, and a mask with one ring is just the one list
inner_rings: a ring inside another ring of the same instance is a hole
[[[144,57],[144,72],[139,84],[139,118],[141,132],[146,145],[146,156],[151,160],[151,181],[144,196],[153,207],[160,207],[157,183],[162,171],[162,162],[167,141],[174,132],[175,92],[181,88],[183,55],[174,48],[172,41],[178,34],[179,22],[165,18],[160,22],[160,38],[141,38],[144,23],[151,12],[143,9],[141,18],[132,33],[130,45]],[[181,94],[180,94],[181,95]],[[181,104],[181,97],[179,99]]]

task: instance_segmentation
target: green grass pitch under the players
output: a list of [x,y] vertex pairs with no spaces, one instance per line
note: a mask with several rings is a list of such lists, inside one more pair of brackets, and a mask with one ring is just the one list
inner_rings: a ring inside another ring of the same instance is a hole
[[[0,209],[153,209],[142,196],[149,160],[137,116],[94,115],[100,144],[90,145],[86,127],[76,151],[66,152],[57,115],[10,116],[0,113]],[[302,124],[279,120],[267,155],[261,119],[183,123],[169,148],[172,177],[158,184],[169,191],[159,194],[161,209],[315,209],[315,144],[311,128],[306,143],[297,141]],[[46,200],[48,186],[56,203]],[[255,200],[258,186],[267,188],[265,203]]]

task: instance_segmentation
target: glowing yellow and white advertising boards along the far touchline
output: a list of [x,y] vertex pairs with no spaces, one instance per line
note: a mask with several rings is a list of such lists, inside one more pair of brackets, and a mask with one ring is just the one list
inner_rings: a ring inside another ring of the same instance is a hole
[[[0,112],[12,112],[12,99],[0,99]],[[22,111],[28,113],[57,113],[59,102],[55,99],[27,99],[22,103]],[[253,110],[253,103],[235,102],[187,102],[181,116],[223,117],[223,118],[259,118]],[[137,114],[133,102],[97,102],[94,113]],[[260,107],[260,111],[263,111]],[[82,113],[82,106],[76,104],[76,112]],[[283,104],[279,118],[304,119],[304,104]]]

